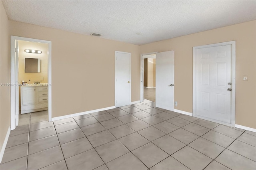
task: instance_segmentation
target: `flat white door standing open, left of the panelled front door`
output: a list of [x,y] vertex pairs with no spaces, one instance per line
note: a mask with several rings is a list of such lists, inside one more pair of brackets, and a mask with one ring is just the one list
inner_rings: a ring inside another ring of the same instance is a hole
[[156,107],[174,110],[174,51],[156,53]]

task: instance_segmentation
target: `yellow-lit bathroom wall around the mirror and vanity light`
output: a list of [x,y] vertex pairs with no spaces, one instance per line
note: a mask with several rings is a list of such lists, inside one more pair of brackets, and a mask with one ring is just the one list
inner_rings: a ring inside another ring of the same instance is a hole
[[[18,41],[18,57],[19,57],[19,73],[18,82],[21,83],[22,80],[25,82],[34,83],[35,81],[40,81],[40,83],[48,83],[48,44],[47,43],[36,43],[36,42],[26,42]],[[41,54],[26,53],[25,49],[36,49],[42,51]],[[25,73],[25,57],[26,58],[39,58],[40,59],[40,73]],[[41,80],[43,77],[44,80]]]

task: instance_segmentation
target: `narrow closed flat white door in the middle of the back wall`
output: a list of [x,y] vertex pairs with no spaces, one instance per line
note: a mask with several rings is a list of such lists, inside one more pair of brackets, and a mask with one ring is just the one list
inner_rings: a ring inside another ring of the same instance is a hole
[[116,107],[131,103],[131,53],[116,51]]

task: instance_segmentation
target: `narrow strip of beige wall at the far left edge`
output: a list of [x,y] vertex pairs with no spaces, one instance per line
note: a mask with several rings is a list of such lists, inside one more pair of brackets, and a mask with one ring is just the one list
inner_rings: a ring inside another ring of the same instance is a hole
[[[10,34],[6,12],[0,2],[0,83],[10,83]],[[0,148],[10,127],[10,86],[0,87]]]

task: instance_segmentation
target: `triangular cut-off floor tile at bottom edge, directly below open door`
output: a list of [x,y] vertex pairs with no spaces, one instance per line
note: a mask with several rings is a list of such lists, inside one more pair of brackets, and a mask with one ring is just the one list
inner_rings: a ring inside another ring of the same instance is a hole
[[189,170],[186,166],[174,159],[172,156],[162,160],[150,170]]

